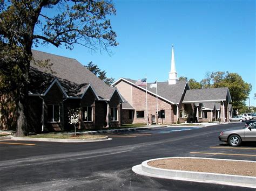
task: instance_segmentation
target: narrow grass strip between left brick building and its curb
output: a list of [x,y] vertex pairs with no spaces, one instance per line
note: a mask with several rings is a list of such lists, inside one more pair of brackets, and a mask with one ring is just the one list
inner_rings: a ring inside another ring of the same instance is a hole
[[38,135],[31,135],[28,138],[51,138],[51,139],[92,139],[92,138],[103,138],[105,136],[98,136],[98,135],[67,135],[67,134],[56,134],[56,133],[47,133],[47,134],[38,134]]

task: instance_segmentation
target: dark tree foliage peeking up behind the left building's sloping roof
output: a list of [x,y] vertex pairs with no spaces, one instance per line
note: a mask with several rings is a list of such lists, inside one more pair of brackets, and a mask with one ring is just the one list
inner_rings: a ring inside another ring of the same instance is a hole
[[93,74],[95,74],[97,77],[99,77],[100,80],[103,80],[107,85],[111,85],[114,82],[114,79],[112,77],[106,76],[106,71],[99,69],[98,65],[89,62],[86,66],[87,69],[89,69]]

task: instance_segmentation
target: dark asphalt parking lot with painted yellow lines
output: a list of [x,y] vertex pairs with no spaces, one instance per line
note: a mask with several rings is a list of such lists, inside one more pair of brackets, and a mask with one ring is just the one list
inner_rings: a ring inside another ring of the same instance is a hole
[[231,147],[218,140],[220,131],[242,125],[116,133],[109,135],[112,140],[94,143],[2,140],[0,190],[170,190],[170,187],[175,190],[246,190],[242,187],[149,178],[131,171],[132,166],[145,160],[163,157],[255,161],[255,144]]

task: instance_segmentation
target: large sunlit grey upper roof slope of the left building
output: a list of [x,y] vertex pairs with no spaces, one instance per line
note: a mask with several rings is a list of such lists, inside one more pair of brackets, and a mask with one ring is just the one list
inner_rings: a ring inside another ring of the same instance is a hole
[[[53,63],[51,69],[56,72],[54,75],[58,77],[58,79],[68,80],[79,85],[91,83],[100,98],[109,100],[115,90],[115,88],[107,86],[107,84],[76,59],[35,50],[32,50],[32,54],[35,60],[44,61],[49,59],[49,63]],[[44,68],[35,66],[33,63],[31,63],[31,66],[45,72]]]

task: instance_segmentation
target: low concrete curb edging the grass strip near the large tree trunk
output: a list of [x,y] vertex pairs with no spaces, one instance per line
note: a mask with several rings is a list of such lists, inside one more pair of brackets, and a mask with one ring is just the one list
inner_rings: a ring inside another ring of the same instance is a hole
[[85,142],[102,142],[105,140],[112,140],[108,137],[93,138],[93,139],[53,139],[53,138],[25,138],[25,137],[11,137],[11,140],[29,140],[35,142],[58,142],[58,143],[85,143]]

